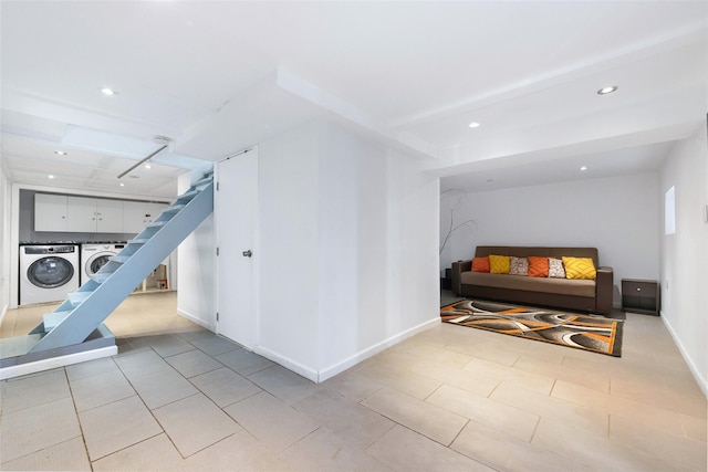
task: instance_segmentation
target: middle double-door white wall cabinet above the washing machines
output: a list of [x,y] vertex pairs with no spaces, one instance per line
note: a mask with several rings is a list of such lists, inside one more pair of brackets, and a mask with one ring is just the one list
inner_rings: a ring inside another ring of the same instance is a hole
[[69,197],[67,231],[80,233],[122,233],[123,201]]

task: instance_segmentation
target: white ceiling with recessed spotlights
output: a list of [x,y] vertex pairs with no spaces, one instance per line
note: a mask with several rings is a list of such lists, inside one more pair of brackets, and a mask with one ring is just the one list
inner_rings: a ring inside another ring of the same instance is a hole
[[[653,171],[706,126],[705,1],[0,9],[2,165],[24,185],[171,197],[179,174],[324,119],[442,189],[489,190]],[[152,169],[118,179],[156,136]]]

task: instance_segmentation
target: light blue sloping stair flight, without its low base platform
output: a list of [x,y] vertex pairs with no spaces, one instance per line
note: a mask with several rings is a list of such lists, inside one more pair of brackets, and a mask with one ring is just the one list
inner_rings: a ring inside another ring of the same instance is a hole
[[[66,315],[29,350],[37,353],[83,343],[105,318],[214,211],[214,181],[210,180],[178,211],[175,206],[194,188],[178,197],[153,223],[129,241],[113,260],[70,298],[84,297],[74,305],[67,298],[55,313]],[[165,217],[171,214],[171,217]],[[169,219],[167,219],[169,218]],[[158,228],[154,234],[150,230]],[[148,234],[148,235],[145,235]],[[137,248],[136,248],[137,247]],[[126,254],[124,254],[126,253]],[[124,260],[123,260],[124,259]],[[119,261],[119,262],[118,262]],[[111,272],[113,271],[113,272]],[[49,315],[48,315],[49,316]],[[32,333],[44,333],[45,323]]]

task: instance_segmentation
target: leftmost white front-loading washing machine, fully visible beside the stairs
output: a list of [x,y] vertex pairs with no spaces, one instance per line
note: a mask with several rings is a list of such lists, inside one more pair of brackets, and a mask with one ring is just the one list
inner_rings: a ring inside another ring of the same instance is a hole
[[20,245],[20,305],[61,302],[79,289],[79,245]]

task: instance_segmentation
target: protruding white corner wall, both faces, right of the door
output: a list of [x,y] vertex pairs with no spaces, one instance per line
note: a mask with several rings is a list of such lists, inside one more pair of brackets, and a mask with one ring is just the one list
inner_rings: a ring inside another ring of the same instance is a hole
[[259,156],[257,352],[322,381],[439,323],[437,179],[331,124]]

